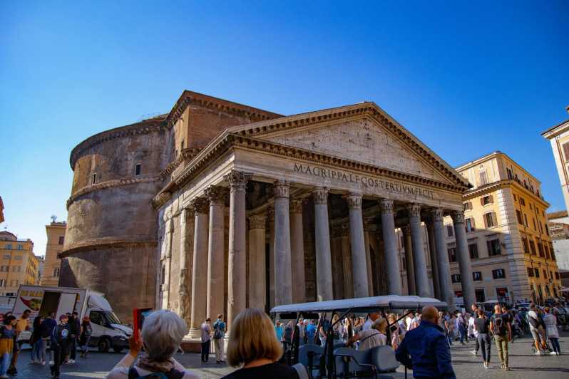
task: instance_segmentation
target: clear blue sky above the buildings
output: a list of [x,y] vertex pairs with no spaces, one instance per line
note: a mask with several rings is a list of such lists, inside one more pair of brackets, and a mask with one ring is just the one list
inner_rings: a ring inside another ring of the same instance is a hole
[[0,2],[0,229],[43,254],[71,149],[184,89],[285,115],[373,100],[451,165],[506,152],[563,209],[540,132],[569,118],[568,1],[202,3]]

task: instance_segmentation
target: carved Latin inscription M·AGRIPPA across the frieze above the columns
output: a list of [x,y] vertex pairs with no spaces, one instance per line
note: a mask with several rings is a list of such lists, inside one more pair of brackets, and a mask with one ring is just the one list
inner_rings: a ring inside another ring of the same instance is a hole
[[394,192],[405,195],[415,195],[425,197],[426,199],[434,199],[434,192],[426,190],[421,187],[414,187],[411,185],[403,185],[401,183],[389,182],[387,180],[376,179],[365,175],[352,174],[350,172],[343,172],[318,166],[299,165],[294,163],[294,172],[302,172],[306,175],[315,177],[323,177],[331,180],[340,180],[342,182],[360,184],[364,187],[378,188],[387,192]]

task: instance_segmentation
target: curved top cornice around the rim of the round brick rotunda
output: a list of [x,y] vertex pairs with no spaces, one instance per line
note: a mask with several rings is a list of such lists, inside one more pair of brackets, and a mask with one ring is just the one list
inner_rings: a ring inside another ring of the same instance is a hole
[[128,137],[130,135],[155,133],[163,130],[165,130],[164,117],[159,116],[158,118],[150,118],[148,120],[140,121],[140,123],[113,128],[111,130],[106,130],[104,132],[97,133],[96,135],[92,135],[86,140],[83,140],[83,142],[79,143],[76,147],[73,147],[73,150],[71,150],[71,156],[69,157],[71,170],[75,170],[75,162],[79,155],[91,147],[110,140],[116,140],[117,138]]

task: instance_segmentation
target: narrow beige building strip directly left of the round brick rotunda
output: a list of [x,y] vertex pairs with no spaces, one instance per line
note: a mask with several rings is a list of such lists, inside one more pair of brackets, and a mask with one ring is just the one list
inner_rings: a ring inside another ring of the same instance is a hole
[[66,222],[51,222],[46,225],[48,237],[46,244],[46,260],[43,262],[42,286],[58,286],[59,271],[61,269],[61,258],[58,254],[63,251],[65,243]]

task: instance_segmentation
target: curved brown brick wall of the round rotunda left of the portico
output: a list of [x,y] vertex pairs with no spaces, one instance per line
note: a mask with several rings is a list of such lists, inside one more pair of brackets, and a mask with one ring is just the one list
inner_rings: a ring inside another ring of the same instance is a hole
[[103,292],[123,322],[133,308],[155,306],[158,214],[150,200],[163,186],[169,140],[155,118],[93,135],[71,152],[59,285]]

